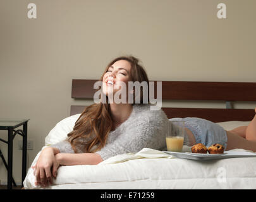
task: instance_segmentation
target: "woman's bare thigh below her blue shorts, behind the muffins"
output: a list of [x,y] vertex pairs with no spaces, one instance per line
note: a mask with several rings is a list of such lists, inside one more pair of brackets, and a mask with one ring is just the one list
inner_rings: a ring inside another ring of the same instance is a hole
[[233,150],[236,148],[241,148],[244,150],[251,150],[256,152],[256,141],[246,140],[242,138],[236,133],[232,133],[231,131],[226,131],[228,136],[228,143],[226,150]]

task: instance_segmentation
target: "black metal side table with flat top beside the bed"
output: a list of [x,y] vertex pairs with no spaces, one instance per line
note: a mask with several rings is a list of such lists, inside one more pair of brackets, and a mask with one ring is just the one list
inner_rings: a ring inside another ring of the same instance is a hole
[[[22,179],[21,183],[23,186],[23,181],[26,177],[27,172],[27,130],[28,130],[28,121],[30,119],[0,119],[0,130],[8,131],[8,141],[0,138],[0,141],[8,144],[8,163],[4,160],[3,154],[1,155],[4,165],[7,167],[8,176],[7,176],[7,188],[12,189],[13,180],[13,139],[16,134],[20,134],[23,137],[22,144]],[[23,129],[15,130],[19,126],[23,126]]]

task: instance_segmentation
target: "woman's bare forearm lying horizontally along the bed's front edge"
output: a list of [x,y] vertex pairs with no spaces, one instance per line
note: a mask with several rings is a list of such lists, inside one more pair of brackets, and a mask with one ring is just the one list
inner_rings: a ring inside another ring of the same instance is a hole
[[57,153],[55,157],[60,165],[97,165],[103,161],[97,153]]

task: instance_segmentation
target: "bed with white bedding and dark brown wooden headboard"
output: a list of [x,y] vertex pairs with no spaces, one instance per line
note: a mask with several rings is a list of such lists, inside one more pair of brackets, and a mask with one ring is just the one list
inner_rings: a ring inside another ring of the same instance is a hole
[[[71,97],[92,99],[95,81],[72,80]],[[162,109],[169,119],[200,117],[229,130],[248,125],[252,120],[253,109],[233,109],[232,105],[234,101],[256,101],[255,92],[256,83],[162,81],[162,100],[226,102],[226,109]],[[71,105],[70,117],[52,128],[46,136],[46,146],[64,140],[85,107]],[[184,147],[184,150],[189,149]],[[253,153],[240,148],[234,151]],[[39,155],[40,151],[31,166],[35,165]],[[256,189],[255,167],[256,157],[200,161],[174,158],[162,151],[145,148],[135,154],[111,157],[98,165],[61,166],[52,186],[45,188],[35,186],[30,167],[23,184],[25,189]]]

